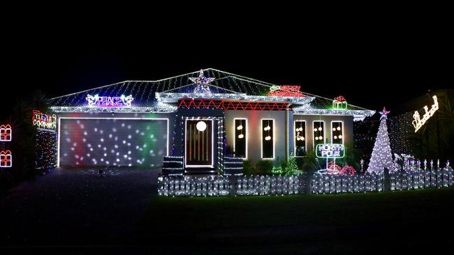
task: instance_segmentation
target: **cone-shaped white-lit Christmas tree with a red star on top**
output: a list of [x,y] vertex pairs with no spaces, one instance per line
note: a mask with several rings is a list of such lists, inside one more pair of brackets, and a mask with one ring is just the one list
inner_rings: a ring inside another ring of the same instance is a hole
[[369,173],[383,171],[385,167],[393,171],[393,155],[391,154],[388,127],[386,125],[386,115],[389,114],[389,111],[386,111],[386,108],[383,107],[383,111],[380,114],[379,133],[376,134],[374,150],[372,150],[372,157],[367,168]]

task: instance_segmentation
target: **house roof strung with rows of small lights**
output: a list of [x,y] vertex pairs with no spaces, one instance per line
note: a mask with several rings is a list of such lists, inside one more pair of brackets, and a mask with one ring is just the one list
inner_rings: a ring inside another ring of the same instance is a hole
[[[159,79],[156,81],[124,81],[115,84],[108,84],[91,88],[77,93],[61,95],[49,100],[51,108],[54,111],[90,111],[93,107],[87,107],[87,95],[133,95],[133,109],[117,108],[115,111],[173,111],[175,106],[158,100],[157,95],[169,95],[170,93],[192,93],[194,83],[189,78],[196,77],[200,71],[189,72],[184,75]],[[203,70],[205,77],[214,77],[210,82],[210,91],[214,94],[230,94],[233,98],[244,98],[244,95],[251,96],[252,100],[282,100],[288,101],[288,98],[264,97],[268,95],[270,87],[275,84],[263,82],[258,79],[252,79],[241,75],[235,75],[230,72],[207,68]],[[159,94],[156,94],[159,93]],[[303,92],[305,93],[305,92]],[[235,96],[235,94],[237,94]],[[306,114],[323,114],[321,110],[328,110],[332,105],[332,99],[323,98],[318,95],[305,93],[307,98],[300,100],[300,106],[293,107],[295,111]],[[295,100],[297,102],[297,100]],[[302,105],[302,106],[301,106]],[[111,111],[112,109],[97,109],[98,111]],[[348,105],[344,111],[336,111],[334,114],[342,115],[360,115],[369,116],[374,111]]]

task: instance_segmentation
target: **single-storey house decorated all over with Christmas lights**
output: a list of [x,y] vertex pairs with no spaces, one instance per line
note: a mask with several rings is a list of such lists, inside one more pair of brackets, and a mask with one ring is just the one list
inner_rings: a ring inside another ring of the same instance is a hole
[[317,144],[353,141],[353,121],[374,111],[208,68],[157,81],[125,81],[50,100],[57,165],[223,169],[235,157],[304,157]]

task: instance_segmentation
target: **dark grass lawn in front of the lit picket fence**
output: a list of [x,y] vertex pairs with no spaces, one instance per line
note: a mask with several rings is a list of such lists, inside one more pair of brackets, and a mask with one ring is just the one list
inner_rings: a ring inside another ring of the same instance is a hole
[[450,187],[364,194],[156,197],[138,229],[142,238],[162,243],[275,245],[323,238],[330,245],[353,238],[365,245],[363,241],[383,236],[405,242],[452,229],[453,195]]

